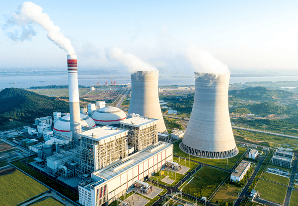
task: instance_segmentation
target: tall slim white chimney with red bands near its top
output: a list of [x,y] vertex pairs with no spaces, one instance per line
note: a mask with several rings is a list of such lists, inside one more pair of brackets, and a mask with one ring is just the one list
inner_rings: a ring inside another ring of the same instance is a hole
[[81,125],[79,113],[76,55],[67,55],[67,70],[70,93],[71,131],[73,131],[74,144],[79,145],[79,134],[81,133]]

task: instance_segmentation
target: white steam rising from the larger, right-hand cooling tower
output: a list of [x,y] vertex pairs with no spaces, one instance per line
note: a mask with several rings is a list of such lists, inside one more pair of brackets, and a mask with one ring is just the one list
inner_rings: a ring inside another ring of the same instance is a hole
[[190,60],[195,72],[201,73],[230,73],[227,65],[216,59],[208,51],[194,45],[186,48],[186,57]]

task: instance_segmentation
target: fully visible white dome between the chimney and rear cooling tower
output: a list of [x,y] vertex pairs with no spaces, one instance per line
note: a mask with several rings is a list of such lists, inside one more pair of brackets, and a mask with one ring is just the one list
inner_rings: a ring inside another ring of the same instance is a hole
[[126,119],[126,114],[117,107],[109,106],[96,110],[92,119],[99,125],[119,124],[121,120]]

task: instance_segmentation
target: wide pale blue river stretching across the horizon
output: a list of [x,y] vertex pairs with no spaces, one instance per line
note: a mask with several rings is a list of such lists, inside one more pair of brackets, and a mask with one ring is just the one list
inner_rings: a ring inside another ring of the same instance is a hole
[[[44,82],[40,82],[44,80]],[[260,81],[297,81],[298,76],[270,76],[270,77],[230,77],[230,84],[245,82],[260,82]],[[117,84],[131,83],[130,74],[101,74],[101,75],[79,75],[78,84],[84,86],[105,84],[107,81],[110,84],[111,81],[116,81]],[[16,84],[9,84],[14,83]],[[45,76],[0,76],[0,89],[4,88],[29,88],[36,86],[48,86],[48,85],[67,85],[67,75],[45,75]],[[170,77],[159,78],[158,85],[194,85],[194,77]]]

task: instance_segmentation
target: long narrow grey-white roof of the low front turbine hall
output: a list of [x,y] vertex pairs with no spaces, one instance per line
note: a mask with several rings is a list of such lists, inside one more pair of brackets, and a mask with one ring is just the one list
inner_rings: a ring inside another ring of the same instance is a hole
[[[159,147],[161,146],[161,147]],[[152,148],[157,147],[156,150],[151,150]],[[160,153],[163,150],[166,150],[170,147],[173,147],[172,144],[169,143],[161,143],[157,142],[154,145],[151,145],[150,147],[146,148],[145,150],[142,150],[136,154],[132,154],[126,158],[123,158],[121,160],[116,161],[115,163],[98,170],[96,172],[92,173],[93,176],[97,176],[102,179],[112,179],[113,177],[133,168],[135,165],[138,165],[139,163],[145,161],[151,156],[154,156],[155,154]],[[152,152],[149,152],[152,151]],[[121,166],[123,165],[123,166]],[[115,167],[116,166],[116,167]]]

